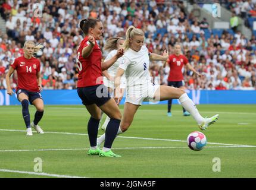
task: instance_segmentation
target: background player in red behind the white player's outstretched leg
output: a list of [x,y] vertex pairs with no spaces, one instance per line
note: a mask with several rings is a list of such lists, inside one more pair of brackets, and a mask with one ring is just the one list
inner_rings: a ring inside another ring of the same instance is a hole
[[[181,46],[179,43],[176,43],[174,45],[174,54],[170,55],[167,59],[167,62],[165,62],[164,67],[166,66],[166,63],[170,66],[170,73],[168,77],[168,85],[171,87],[176,88],[183,88],[186,90],[185,82],[182,74],[182,68],[183,65],[187,66],[191,71],[195,72],[196,75],[201,76],[191,64],[189,64],[188,59],[182,55]],[[168,100],[168,112],[167,116],[171,116],[171,103],[172,99]],[[190,113],[186,111],[183,107],[183,115],[189,116]]]

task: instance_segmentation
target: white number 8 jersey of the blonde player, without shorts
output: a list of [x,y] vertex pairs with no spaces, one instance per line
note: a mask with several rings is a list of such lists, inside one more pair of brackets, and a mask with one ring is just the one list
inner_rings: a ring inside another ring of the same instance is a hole
[[119,68],[125,71],[127,88],[151,83],[149,74],[148,48],[142,46],[139,52],[128,49],[121,57]]

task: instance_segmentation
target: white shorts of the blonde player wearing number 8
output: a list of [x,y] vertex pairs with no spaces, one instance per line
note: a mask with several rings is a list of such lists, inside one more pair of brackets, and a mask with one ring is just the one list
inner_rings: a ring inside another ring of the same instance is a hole
[[146,84],[129,87],[126,90],[126,101],[133,105],[142,105],[142,102],[154,102],[155,92],[160,85]]

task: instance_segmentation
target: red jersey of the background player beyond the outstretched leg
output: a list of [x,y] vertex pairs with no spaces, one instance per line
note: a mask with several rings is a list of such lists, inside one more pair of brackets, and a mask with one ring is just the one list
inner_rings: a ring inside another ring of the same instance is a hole
[[168,64],[170,66],[168,81],[182,81],[182,68],[183,65],[188,64],[188,59],[184,55],[176,56],[173,54],[169,56]]

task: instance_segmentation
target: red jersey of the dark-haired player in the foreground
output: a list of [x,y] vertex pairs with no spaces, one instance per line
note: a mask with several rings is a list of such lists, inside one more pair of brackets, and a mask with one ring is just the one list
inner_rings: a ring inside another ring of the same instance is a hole
[[88,37],[86,36],[77,49],[77,68],[79,69],[77,87],[103,84],[101,71],[102,54],[96,40],[90,55],[87,58],[82,56],[83,47],[89,44]]

